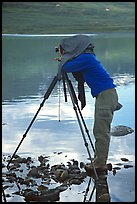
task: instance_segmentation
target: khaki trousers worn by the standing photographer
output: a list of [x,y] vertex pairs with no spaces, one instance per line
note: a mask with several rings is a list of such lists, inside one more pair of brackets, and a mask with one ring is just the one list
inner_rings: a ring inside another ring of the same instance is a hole
[[95,137],[95,166],[102,166],[107,162],[111,122],[117,104],[118,95],[115,88],[102,91],[96,98],[93,127]]

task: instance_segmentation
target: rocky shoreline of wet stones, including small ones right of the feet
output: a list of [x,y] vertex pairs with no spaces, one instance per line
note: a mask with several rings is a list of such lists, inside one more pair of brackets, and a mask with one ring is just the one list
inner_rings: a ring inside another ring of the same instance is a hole
[[[13,195],[22,196],[24,202],[54,202],[60,200],[60,193],[71,188],[72,185],[81,185],[86,177],[87,172],[83,168],[83,162],[75,159],[69,160],[67,165],[63,163],[50,166],[48,156],[38,156],[39,165],[34,164],[31,157],[20,157],[15,155],[7,169],[7,163],[11,156],[3,155],[2,163],[2,185],[3,199],[7,199]],[[123,162],[128,162],[127,158],[121,158]],[[113,175],[117,170],[121,169],[122,163],[112,167]],[[124,165],[124,168],[133,167],[132,165]],[[105,179],[107,174],[100,174],[99,178]],[[94,175],[92,180],[95,182]],[[100,181],[100,182],[101,182]],[[16,191],[14,191],[16,186]],[[12,189],[11,194],[7,194],[7,189]],[[103,192],[102,192],[103,193]],[[105,195],[106,199],[106,195]]]

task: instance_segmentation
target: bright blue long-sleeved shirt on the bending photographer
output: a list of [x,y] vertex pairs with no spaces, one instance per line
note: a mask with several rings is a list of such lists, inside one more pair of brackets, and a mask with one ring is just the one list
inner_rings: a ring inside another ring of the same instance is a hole
[[109,73],[94,54],[83,53],[63,65],[65,72],[82,72],[83,78],[96,97],[100,92],[116,87]]

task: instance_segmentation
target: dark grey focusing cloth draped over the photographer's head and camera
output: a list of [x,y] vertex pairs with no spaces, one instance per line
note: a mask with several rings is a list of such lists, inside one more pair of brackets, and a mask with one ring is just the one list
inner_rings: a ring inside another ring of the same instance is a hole
[[[61,48],[65,50],[62,55],[62,60],[59,64],[58,79],[61,79],[61,70],[63,65],[79,56],[81,53],[94,53],[94,45],[91,43],[91,39],[87,35],[74,35],[68,38],[64,38],[60,43]],[[84,91],[84,79],[81,72],[72,72],[74,78],[78,81],[78,99],[81,102],[81,109],[86,105],[85,91]]]

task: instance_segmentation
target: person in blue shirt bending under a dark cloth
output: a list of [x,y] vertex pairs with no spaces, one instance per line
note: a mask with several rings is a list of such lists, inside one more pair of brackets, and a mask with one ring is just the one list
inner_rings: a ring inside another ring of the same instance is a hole
[[[116,85],[109,73],[97,59],[94,45],[87,35],[75,35],[64,38],[59,46],[61,58],[59,73],[71,72],[78,81],[79,99],[84,108],[84,82],[91,89],[95,98],[95,115],[93,134],[95,137],[94,165],[97,171],[107,169],[107,158],[110,144],[110,128],[115,110],[122,105],[118,103]],[[92,170],[92,165],[86,165],[86,170]]]

